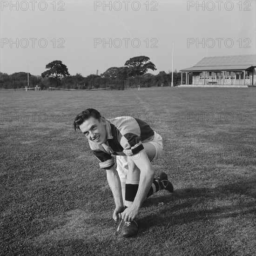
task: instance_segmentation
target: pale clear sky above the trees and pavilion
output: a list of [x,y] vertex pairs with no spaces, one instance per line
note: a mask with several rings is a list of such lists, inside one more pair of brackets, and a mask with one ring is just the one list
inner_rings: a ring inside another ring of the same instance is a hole
[[206,56],[256,54],[255,0],[0,4],[0,72],[7,74],[40,75],[60,60],[69,74],[88,76],[141,55],[157,68],[148,73],[158,74],[192,67]]

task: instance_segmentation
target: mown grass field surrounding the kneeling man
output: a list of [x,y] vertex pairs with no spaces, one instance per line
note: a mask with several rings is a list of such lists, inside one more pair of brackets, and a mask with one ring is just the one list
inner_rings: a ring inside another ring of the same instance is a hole
[[[0,92],[0,255],[256,254],[255,88]],[[139,234],[114,235],[114,200],[75,115],[131,115],[163,137]]]

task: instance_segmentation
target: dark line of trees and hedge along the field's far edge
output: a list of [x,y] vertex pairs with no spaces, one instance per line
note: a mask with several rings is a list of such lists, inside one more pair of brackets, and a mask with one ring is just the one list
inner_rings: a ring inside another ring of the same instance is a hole
[[[137,56],[125,62],[124,67],[110,67],[104,73],[90,74],[87,77],[81,74],[70,75],[67,66],[62,61],[52,61],[46,65],[46,71],[41,75],[32,75],[26,72],[6,74],[0,72],[0,88],[19,89],[35,86],[43,89],[98,89],[170,86],[172,74],[160,71],[159,74],[147,73],[148,70],[157,70],[155,64],[146,56]],[[174,86],[180,85],[181,73],[175,70]],[[29,82],[28,82],[29,81]]]

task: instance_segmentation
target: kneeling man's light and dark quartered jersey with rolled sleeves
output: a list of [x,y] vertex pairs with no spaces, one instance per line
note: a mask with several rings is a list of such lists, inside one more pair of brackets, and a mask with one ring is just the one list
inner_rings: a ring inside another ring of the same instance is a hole
[[112,155],[138,154],[144,147],[142,142],[153,140],[154,131],[144,121],[131,117],[119,116],[106,119],[107,141],[101,145],[88,140],[94,155],[100,161],[100,167],[109,169],[114,166]]

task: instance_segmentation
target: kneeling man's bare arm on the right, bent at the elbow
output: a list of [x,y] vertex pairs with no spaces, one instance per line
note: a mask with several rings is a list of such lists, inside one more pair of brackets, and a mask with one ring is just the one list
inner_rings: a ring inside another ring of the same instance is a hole
[[148,191],[152,185],[155,170],[149,161],[145,149],[142,149],[138,154],[132,156],[135,165],[141,170],[140,182],[135,200],[131,206],[121,214],[124,221],[132,221],[139,214],[139,209],[148,195]]

